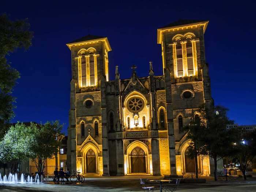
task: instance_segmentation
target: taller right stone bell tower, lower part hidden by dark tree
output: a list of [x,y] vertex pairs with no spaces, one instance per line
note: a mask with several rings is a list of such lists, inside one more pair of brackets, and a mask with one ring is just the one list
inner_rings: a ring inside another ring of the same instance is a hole
[[166,83],[171,174],[182,169],[182,157],[178,149],[184,145],[181,141],[184,137],[181,131],[183,124],[189,123],[200,105],[213,104],[204,52],[207,25],[208,21],[178,20],[157,30],[157,42],[162,45]]

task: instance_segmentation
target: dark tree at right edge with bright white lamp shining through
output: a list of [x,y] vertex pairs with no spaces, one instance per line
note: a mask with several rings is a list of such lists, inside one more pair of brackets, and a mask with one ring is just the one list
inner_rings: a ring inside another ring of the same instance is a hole
[[246,132],[244,129],[238,128],[236,139],[236,142],[233,143],[234,157],[240,164],[239,169],[246,180],[246,170],[249,163],[256,158],[256,131]]

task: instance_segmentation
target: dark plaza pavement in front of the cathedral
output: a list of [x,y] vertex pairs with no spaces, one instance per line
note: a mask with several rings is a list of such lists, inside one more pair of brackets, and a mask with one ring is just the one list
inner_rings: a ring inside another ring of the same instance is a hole
[[[121,176],[121,177],[86,177],[82,184],[65,182],[57,184],[49,182],[48,184],[0,184],[2,192],[142,192],[139,184],[139,178],[159,179],[153,176]],[[222,179],[222,178],[219,178]],[[230,178],[230,181],[213,181],[212,177],[207,177],[207,182],[203,184],[180,184],[178,192],[255,192],[256,178],[248,178],[244,181],[241,177]]]

